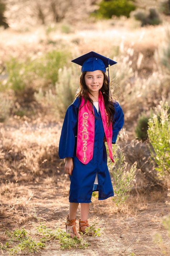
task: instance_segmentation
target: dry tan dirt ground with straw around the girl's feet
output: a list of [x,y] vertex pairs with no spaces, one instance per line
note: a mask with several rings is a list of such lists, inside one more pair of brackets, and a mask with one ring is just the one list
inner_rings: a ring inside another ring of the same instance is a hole
[[[47,177],[42,183],[13,184],[6,194],[7,201],[1,201],[3,207],[0,216],[0,239],[4,243],[4,231],[8,228],[24,227],[34,237],[37,217],[46,225],[55,229],[65,229],[65,216],[68,214],[69,178],[63,172],[56,177]],[[57,181],[57,183],[56,183]],[[13,197],[11,197],[13,195]],[[3,197],[4,198],[4,197]],[[161,256],[161,249],[154,242],[154,234],[162,235],[164,244],[170,247],[169,237],[161,218],[169,212],[165,204],[167,193],[154,191],[143,195],[131,195],[121,211],[112,198],[98,201],[92,197],[89,223],[102,229],[100,237],[88,237],[91,246],[86,250],[61,250],[57,241],[47,243],[39,256],[52,255],[114,255],[114,256]],[[78,208],[77,219],[80,216]],[[101,224],[101,220],[103,224]],[[78,224],[78,221],[77,221]],[[78,225],[77,225],[78,226]],[[1,252],[0,255],[6,255]]]

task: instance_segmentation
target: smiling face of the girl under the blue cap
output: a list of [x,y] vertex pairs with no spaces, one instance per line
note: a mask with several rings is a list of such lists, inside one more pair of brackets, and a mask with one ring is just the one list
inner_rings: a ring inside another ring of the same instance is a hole
[[103,86],[104,75],[101,70],[87,71],[84,79],[89,92],[93,94]]

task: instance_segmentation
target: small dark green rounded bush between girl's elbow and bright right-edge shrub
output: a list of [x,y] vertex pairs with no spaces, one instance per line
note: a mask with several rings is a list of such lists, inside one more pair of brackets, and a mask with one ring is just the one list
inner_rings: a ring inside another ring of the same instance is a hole
[[147,116],[145,113],[141,114],[137,121],[135,133],[138,139],[147,139],[148,120],[151,116]]

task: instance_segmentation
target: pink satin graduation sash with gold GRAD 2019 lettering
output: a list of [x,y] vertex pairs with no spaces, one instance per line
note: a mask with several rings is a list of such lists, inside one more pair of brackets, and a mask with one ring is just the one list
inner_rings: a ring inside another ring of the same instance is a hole
[[[107,139],[109,157],[111,158],[112,162],[114,162],[112,155],[112,123],[110,122],[109,125],[108,113],[105,109],[104,99],[101,91],[99,91],[98,102],[104,133]],[[94,115],[91,113],[91,103],[89,101],[87,101],[85,105],[84,103],[85,99],[82,96],[78,117],[76,157],[80,160],[80,162],[86,165],[93,158],[95,120]],[[84,107],[82,107],[83,105]]]

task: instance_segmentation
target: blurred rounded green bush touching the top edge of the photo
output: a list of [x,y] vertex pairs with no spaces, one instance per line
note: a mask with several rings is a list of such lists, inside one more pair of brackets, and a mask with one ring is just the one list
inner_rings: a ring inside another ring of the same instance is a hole
[[99,18],[112,18],[112,15],[120,17],[124,15],[129,17],[131,11],[135,10],[136,7],[132,1],[128,0],[103,0],[99,3],[99,9],[93,13],[93,16]]

